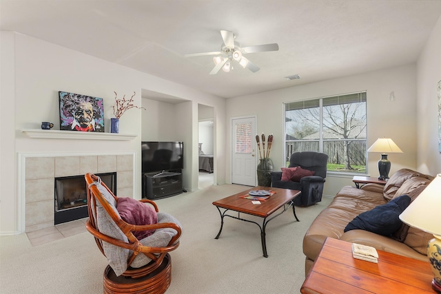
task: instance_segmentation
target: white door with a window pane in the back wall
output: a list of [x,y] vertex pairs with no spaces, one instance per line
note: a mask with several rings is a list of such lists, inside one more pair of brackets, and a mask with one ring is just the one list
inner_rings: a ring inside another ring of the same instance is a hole
[[232,183],[256,186],[256,117],[232,119]]

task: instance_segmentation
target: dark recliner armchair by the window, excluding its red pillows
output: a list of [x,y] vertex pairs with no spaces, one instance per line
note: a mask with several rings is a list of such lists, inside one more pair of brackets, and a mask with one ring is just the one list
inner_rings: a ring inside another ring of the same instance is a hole
[[314,176],[305,176],[300,182],[283,181],[282,171],[271,172],[271,187],[300,190],[302,195],[294,199],[297,206],[309,206],[322,200],[323,186],[325,185],[327,171],[327,154],[303,151],[295,152],[289,158],[289,167],[302,167],[315,171]]

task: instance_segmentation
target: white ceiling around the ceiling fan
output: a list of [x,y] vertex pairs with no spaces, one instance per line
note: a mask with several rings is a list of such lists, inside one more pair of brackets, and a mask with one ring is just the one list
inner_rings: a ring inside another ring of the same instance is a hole
[[[216,96],[232,98],[415,62],[441,15],[440,0],[0,0],[0,28],[34,36]],[[256,73],[209,72],[219,30]],[[300,80],[284,76],[299,74]],[[145,91],[143,96],[161,96]],[[170,97],[168,97],[170,98]],[[161,99],[161,97],[158,97]]]

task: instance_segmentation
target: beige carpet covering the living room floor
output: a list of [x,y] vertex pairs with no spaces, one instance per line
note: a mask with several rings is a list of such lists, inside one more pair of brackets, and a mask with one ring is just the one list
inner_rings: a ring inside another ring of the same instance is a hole
[[[302,238],[331,199],[296,207],[300,222],[291,210],[271,220],[269,257],[263,258],[256,224],[226,218],[220,238],[214,239],[220,216],[212,202],[244,189],[209,186],[156,201],[160,211],[183,224],[181,245],[170,254],[172,284],[167,293],[300,293],[305,279]],[[89,233],[40,246],[31,246],[25,234],[0,237],[0,293],[103,293],[105,266]]]

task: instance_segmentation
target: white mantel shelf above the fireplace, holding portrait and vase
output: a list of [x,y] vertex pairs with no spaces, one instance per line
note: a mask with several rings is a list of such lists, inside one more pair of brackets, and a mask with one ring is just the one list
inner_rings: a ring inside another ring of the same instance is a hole
[[74,140],[132,140],[138,135],[100,132],[59,131],[56,129],[21,129],[30,138]]

